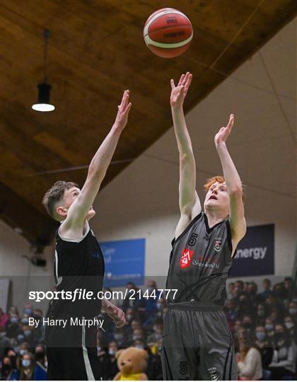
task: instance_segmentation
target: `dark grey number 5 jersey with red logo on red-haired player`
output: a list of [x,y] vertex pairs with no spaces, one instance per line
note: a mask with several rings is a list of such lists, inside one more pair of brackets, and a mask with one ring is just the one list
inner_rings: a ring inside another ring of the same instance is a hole
[[175,296],[170,292],[168,302],[207,301],[223,306],[232,263],[229,221],[209,228],[201,212],[173,239],[172,247],[166,288],[177,292]]

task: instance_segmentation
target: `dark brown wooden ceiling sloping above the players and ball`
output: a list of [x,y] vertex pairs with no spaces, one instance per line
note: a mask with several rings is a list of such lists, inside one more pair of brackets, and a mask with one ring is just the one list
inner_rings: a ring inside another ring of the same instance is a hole
[[[184,12],[194,29],[189,50],[175,59],[154,56],[143,39],[146,19],[163,7]],[[80,166],[112,126],[124,89],[132,111],[103,186],[172,125],[171,78],[192,71],[190,110],[296,11],[296,0],[1,0],[0,219],[35,245],[50,243],[56,225],[42,197],[56,180],[83,185]],[[56,106],[48,113],[31,109],[45,28]]]

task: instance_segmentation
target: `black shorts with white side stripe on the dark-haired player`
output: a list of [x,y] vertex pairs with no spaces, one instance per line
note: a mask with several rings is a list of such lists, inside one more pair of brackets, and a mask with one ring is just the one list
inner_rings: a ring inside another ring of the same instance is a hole
[[45,342],[49,380],[100,380],[96,326],[47,326]]

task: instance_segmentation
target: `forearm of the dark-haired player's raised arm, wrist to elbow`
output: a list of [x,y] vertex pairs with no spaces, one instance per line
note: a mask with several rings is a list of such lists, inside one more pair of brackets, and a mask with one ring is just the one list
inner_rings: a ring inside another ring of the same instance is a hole
[[100,145],[95,156],[93,156],[88,168],[88,176],[95,176],[98,178],[98,181],[103,180],[112,160],[112,156],[115,154],[115,149],[117,147],[117,142],[120,139],[121,132],[122,129],[119,129],[116,125],[112,126],[112,129]]

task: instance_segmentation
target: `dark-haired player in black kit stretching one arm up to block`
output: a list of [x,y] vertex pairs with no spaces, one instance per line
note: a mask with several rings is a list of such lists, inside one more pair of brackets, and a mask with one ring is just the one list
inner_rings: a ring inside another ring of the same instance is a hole
[[[127,125],[131,106],[129,91],[124,91],[115,123],[91,161],[83,188],[80,190],[75,183],[59,181],[45,194],[43,204],[47,212],[61,222],[54,260],[57,291],[86,289],[97,296],[102,290],[103,253],[88,221],[95,216],[92,204]],[[103,299],[102,308],[118,328],[126,323],[124,312],[109,301]],[[94,319],[100,310],[101,300],[95,297],[76,301],[52,300],[49,318],[55,325],[48,325],[45,334],[48,379],[100,379],[96,321],[94,325],[85,325],[85,320]]]

